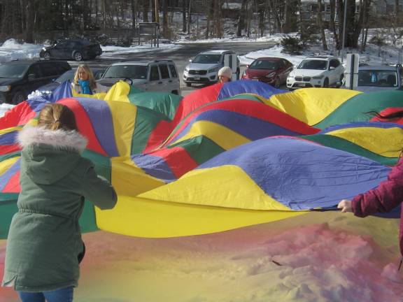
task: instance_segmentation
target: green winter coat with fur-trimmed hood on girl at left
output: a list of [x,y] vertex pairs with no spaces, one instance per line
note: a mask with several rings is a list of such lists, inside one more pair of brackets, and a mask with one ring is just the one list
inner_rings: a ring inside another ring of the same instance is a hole
[[29,127],[18,140],[23,148],[21,192],[8,233],[2,285],[22,292],[76,287],[84,198],[110,209],[115,190],[80,156],[87,141],[76,131]]

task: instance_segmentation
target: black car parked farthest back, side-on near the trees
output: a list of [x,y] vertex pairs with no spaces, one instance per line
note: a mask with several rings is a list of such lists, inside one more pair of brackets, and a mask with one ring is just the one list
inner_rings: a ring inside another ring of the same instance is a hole
[[63,40],[55,45],[42,48],[39,57],[43,59],[94,59],[102,54],[99,43],[87,40]]

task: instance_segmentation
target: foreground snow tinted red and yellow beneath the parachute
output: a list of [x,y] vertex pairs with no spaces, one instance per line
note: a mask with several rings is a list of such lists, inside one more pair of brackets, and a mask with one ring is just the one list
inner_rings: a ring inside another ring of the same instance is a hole
[[335,212],[180,238],[85,233],[75,301],[402,301],[397,233],[397,220]]

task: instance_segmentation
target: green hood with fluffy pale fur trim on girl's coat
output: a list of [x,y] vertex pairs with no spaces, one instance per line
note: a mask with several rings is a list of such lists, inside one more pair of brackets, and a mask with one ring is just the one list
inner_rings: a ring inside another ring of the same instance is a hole
[[51,185],[71,173],[82,160],[87,140],[76,131],[26,127],[17,137],[21,166],[31,180]]

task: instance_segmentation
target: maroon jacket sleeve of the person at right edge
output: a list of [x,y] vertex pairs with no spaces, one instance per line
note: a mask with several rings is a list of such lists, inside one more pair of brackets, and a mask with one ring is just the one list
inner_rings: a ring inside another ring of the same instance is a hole
[[351,201],[353,213],[365,217],[374,213],[390,212],[403,201],[403,159],[393,167],[388,180],[375,189],[355,196]]

